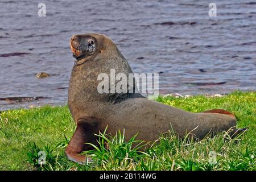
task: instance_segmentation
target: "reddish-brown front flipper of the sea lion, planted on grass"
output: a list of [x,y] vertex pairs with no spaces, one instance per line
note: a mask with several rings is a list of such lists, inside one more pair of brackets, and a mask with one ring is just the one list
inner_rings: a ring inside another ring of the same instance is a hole
[[81,155],[80,153],[92,147],[85,143],[96,143],[94,133],[97,133],[97,121],[95,119],[79,119],[76,131],[65,150],[65,154],[69,160],[79,164],[85,164],[85,155]]

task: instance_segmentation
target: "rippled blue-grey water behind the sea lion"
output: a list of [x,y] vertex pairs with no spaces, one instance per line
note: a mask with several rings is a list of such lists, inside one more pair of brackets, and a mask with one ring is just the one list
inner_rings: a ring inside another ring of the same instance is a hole
[[[43,2],[46,17],[38,1],[0,1],[0,98],[47,97],[0,100],[0,110],[66,104],[69,39],[84,32],[114,40],[134,72],[160,73],[160,94],[256,90],[253,0],[215,1],[217,17],[208,15],[210,1]],[[201,85],[216,82],[224,84]]]

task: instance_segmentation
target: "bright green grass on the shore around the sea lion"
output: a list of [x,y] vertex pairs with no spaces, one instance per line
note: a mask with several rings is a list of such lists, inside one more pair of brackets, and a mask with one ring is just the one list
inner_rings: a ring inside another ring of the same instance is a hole
[[[69,161],[64,149],[75,131],[67,106],[4,111],[0,115],[1,170],[255,170],[256,92],[233,92],[224,97],[159,97],[156,101],[191,112],[226,109],[238,118],[239,127],[249,130],[235,139],[220,133],[200,141],[180,140],[172,132],[160,134],[146,152],[125,142],[123,131],[98,135],[99,145],[86,151],[92,163]],[[124,131],[125,132],[125,131]],[[225,139],[224,139],[225,138]],[[137,142],[138,143],[138,142]],[[38,152],[46,152],[46,164],[38,164]],[[214,151],[216,163],[209,162]]]

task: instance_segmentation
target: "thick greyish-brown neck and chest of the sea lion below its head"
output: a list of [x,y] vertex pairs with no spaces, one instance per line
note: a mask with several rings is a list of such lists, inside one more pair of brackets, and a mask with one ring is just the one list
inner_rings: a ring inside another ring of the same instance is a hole
[[[129,98],[143,97],[139,93],[99,93],[98,76],[101,73],[108,75],[110,78],[110,70],[114,69],[115,73],[123,73],[129,77],[129,73],[133,73],[125,58],[119,51],[108,53],[98,53],[90,59],[81,59],[74,65],[69,82],[69,102],[92,103],[101,102],[105,104],[115,104],[125,101]],[[117,84],[117,82],[115,82]],[[133,83],[133,87],[135,82]]]

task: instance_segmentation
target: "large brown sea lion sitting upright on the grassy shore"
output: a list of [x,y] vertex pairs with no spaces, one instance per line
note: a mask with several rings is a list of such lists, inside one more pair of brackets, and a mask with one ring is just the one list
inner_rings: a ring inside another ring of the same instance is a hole
[[[68,89],[68,106],[77,124],[65,154],[77,163],[84,163],[85,156],[79,155],[96,144],[99,131],[108,126],[108,133],[115,134],[125,129],[125,137],[138,133],[138,140],[152,141],[160,133],[172,129],[181,138],[189,131],[202,139],[210,131],[227,131],[237,121],[225,110],[208,110],[205,113],[190,113],[175,107],[147,100],[139,93],[98,93],[100,73],[128,75],[133,73],[127,60],[114,42],[101,34],[73,35],[70,41],[75,64]],[[134,86],[134,85],[127,85]]]

